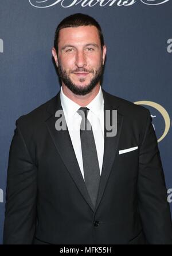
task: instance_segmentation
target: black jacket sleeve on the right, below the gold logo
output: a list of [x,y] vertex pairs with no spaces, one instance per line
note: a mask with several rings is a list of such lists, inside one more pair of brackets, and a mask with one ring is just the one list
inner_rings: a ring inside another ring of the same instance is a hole
[[170,207],[150,112],[139,155],[138,205],[149,244],[172,244]]

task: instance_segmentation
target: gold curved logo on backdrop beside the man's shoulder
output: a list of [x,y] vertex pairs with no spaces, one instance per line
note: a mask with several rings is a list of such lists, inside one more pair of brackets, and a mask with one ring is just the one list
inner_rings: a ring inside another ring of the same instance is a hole
[[[136,101],[134,103],[136,105],[145,105],[145,106],[152,107],[156,111],[158,111],[159,114],[161,114],[163,120],[165,121],[165,130],[163,130],[162,134],[160,135],[158,142],[162,141],[166,137],[167,133],[169,133],[169,130],[170,130],[170,116],[168,112],[161,105],[153,101]],[[152,117],[154,118],[156,116],[152,116]]]

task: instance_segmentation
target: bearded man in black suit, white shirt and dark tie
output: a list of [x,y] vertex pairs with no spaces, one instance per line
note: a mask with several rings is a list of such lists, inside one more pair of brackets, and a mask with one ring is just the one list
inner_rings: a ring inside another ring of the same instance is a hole
[[[99,24],[84,14],[65,18],[52,54],[60,92],[16,122],[4,243],[172,244],[150,112],[101,89],[106,47]],[[105,116],[112,110],[115,135]]]

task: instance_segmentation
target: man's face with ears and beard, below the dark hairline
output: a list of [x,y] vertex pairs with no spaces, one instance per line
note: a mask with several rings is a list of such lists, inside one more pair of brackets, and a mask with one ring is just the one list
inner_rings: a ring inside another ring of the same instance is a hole
[[86,95],[99,84],[106,47],[101,50],[99,32],[94,26],[60,30],[58,56],[52,50],[62,84],[77,95]]

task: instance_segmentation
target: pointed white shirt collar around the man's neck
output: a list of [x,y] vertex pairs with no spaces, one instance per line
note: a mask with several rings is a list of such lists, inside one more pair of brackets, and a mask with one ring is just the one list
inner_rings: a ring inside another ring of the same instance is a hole
[[[60,100],[62,109],[68,116],[73,116],[76,111],[79,110],[79,108],[81,107],[79,104],[75,103],[64,94],[64,92],[62,91],[62,86],[60,91]],[[104,108],[104,99],[101,86],[96,97],[85,107],[88,107],[89,110],[93,112],[93,114],[99,116],[100,111]]]

